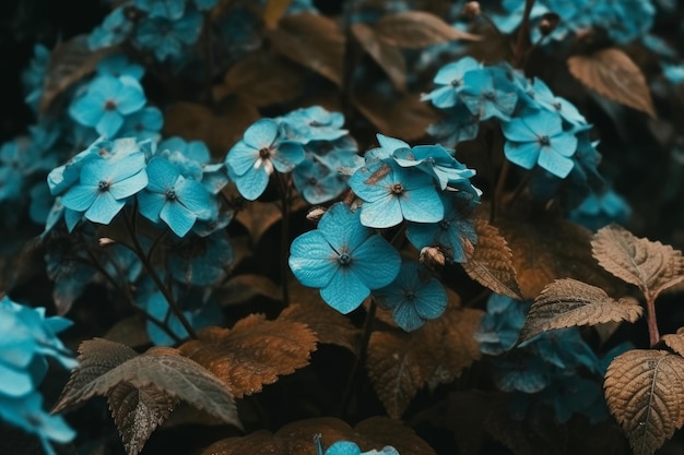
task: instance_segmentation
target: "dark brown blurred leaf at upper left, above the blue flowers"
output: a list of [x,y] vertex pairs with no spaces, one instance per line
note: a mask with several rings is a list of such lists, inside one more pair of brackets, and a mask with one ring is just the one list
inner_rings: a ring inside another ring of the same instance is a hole
[[99,60],[115,50],[116,48],[91,50],[87,35],[78,35],[57,45],[50,55],[40,96],[40,110],[49,109],[60,94],[92,73]]

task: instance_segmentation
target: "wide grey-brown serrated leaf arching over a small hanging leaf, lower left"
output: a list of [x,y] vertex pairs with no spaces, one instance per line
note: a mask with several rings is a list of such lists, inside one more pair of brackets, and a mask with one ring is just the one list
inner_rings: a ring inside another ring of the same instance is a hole
[[[239,427],[237,409],[225,385],[197,362],[173,348],[153,347],[143,355],[106,339],[86,340],[79,348],[80,368],[71,373],[54,411],[83,403],[94,396],[109,397],[120,384],[180,399]],[[125,390],[118,390],[120,395]],[[117,397],[119,396],[117,395]],[[110,404],[114,405],[113,402]],[[129,403],[121,404],[130,407]],[[113,409],[113,414],[118,410]],[[160,414],[156,414],[160,416]],[[142,433],[143,429],[135,429]]]

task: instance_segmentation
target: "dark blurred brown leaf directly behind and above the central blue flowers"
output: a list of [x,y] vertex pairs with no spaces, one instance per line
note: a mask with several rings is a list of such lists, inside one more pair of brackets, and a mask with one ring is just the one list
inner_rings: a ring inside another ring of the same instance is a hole
[[352,104],[382,134],[415,141],[425,135],[425,129],[437,121],[437,112],[418,95],[404,94],[387,99],[376,92],[352,95]]

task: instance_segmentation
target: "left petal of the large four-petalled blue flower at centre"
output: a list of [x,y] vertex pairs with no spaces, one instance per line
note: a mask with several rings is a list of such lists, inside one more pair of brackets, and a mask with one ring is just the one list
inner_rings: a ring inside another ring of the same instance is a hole
[[299,283],[315,288],[327,286],[340,266],[338,254],[320,230],[303,234],[292,242],[288,264]]

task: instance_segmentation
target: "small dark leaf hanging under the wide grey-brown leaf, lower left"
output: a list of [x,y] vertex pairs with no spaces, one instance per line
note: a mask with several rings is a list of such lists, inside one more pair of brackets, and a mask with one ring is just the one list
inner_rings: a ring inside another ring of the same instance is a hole
[[117,384],[109,392],[109,409],[128,455],[142,451],[150,435],[170,416],[178,400],[156,386]]

